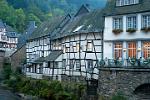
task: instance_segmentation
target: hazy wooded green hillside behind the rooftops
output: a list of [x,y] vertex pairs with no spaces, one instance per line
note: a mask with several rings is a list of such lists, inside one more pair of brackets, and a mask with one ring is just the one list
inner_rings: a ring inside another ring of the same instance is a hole
[[104,6],[99,0],[0,0],[0,19],[19,32],[30,20],[37,25],[55,16],[74,14],[82,4],[93,8]]

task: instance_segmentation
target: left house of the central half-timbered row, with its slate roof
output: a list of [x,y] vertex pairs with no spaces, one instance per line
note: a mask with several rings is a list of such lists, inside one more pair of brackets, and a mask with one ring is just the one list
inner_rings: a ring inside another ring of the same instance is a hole
[[[65,17],[54,18],[51,21],[44,22],[35,30],[26,43],[27,68],[26,74],[34,78],[42,78],[47,75],[49,63],[45,57],[52,52],[50,34],[59,27]],[[45,71],[47,69],[47,71]]]

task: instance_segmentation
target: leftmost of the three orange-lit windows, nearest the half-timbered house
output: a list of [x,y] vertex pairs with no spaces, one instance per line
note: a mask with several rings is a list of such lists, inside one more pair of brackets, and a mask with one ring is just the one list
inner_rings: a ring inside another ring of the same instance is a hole
[[114,57],[122,58],[122,43],[121,42],[114,44]]

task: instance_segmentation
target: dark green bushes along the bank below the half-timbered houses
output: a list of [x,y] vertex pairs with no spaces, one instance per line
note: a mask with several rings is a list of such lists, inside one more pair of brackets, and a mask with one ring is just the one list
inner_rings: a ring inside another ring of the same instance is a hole
[[60,81],[35,80],[19,74],[5,80],[5,84],[16,92],[38,96],[46,100],[78,100],[78,91],[85,89],[82,84],[63,83]]

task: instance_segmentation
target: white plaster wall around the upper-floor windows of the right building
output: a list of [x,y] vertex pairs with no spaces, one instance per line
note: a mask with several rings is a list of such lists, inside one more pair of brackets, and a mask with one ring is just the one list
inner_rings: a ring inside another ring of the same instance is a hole
[[148,39],[150,40],[150,32],[144,33],[141,31],[141,21],[142,21],[142,13],[135,14],[137,16],[137,31],[135,33],[126,32],[126,17],[130,15],[123,15],[123,32],[115,35],[113,30],[113,17],[105,17],[105,29],[104,29],[104,41],[110,40],[141,40]]

